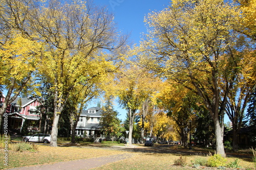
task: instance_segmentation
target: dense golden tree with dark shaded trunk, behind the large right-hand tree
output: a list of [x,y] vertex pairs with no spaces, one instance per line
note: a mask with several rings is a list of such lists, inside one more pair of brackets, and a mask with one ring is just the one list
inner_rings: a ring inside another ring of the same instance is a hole
[[167,115],[175,122],[176,135],[181,144],[187,148],[189,120],[194,120],[197,114],[198,97],[184,86],[174,81],[165,81],[164,89],[155,98],[159,107],[167,110]]

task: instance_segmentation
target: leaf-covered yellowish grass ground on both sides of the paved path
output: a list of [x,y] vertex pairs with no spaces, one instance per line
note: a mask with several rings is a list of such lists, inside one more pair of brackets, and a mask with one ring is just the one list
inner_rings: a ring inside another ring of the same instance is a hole
[[[106,163],[93,169],[255,169],[250,150],[240,150],[239,153],[232,153],[227,150],[226,164],[239,160],[239,166],[230,167],[207,167],[196,165],[197,160],[206,160],[207,154],[214,150],[193,147],[192,150],[184,149],[178,145],[155,144],[154,147],[144,147],[143,144],[134,144],[126,147],[125,144],[101,144],[80,142],[70,144],[69,141],[58,142],[58,147],[49,147],[49,144],[32,144],[31,151],[13,151],[13,141],[9,143],[8,166],[3,163],[0,169],[9,169],[23,166],[35,166],[54,164],[57,162],[68,162],[73,160],[98,158],[125,154],[131,155],[124,160]],[[4,149],[1,149],[0,156],[4,157]],[[183,166],[174,165],[177,160],[182,160]],[[93,163],[93,162],[92,162]],[[129,165],[129,166],[128,166]]]

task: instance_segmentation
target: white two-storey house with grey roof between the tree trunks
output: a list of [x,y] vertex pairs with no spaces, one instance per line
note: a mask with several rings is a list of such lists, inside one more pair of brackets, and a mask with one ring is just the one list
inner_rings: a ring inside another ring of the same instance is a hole
[[76,126],[76,135],[82,137],[93,137],[95,140],[99,139],[101,136],[99,119],[102,111],[103,110],[100,109],[100,107],[92,107],[88,110],[82,110]]

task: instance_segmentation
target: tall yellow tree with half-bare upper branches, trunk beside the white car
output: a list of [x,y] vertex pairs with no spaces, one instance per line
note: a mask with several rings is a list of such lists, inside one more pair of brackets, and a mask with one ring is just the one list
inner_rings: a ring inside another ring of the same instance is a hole
[[126,37],[117,33],[113,15],[85,1],[42,2],[35,6],[30,18],[32,31],[46,46],[39,74],[53,84],[50,145],[57,147],[59,117],[71,92],[97,79],[104,81],[102,75],[116,70]]

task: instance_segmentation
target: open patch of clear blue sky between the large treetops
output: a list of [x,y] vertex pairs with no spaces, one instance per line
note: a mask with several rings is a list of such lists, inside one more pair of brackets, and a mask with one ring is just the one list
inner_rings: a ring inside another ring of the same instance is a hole
[[131,33],[131,41],[139,43],[140,33],[146,32],[144,16],[151,11],[161,11],[170,0],[94,0],[97,6],[109,9],[115,16],[118,29],[124,34]]

